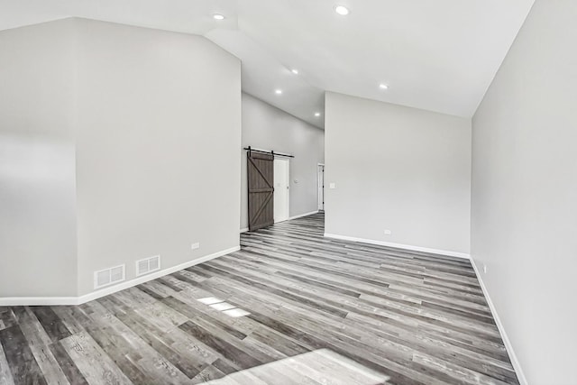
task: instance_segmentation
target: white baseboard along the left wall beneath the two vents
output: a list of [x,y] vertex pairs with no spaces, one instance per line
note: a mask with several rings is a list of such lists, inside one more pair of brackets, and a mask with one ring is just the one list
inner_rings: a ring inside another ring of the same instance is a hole
[[222,257],[226,254],[230,254],[231,252],[238,252],[239,250],[241,250],[241,247],[235,246],[221,252],[215,252],[213,254],[197,258],[193,261],[187,261],[179,265],[172,266],[168,269],[155,271],[152,274],[137,277],[133,280],[127,280],[105,289],[99,289],[80,297],[6,297],[0,298],[0,306],[82,305],[88,301],[108,296],[120,290],[132,288],[133,286],[140,285],[144,282],[148,282],[149,280],[156,280],[157,278],[172,274],[173,272],[187,269],[191,266],[214,260],[215,258]]

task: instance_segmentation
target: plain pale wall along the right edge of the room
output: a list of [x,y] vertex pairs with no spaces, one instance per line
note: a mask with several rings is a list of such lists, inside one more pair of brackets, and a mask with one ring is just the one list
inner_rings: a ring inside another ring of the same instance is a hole
[[536,0],[473,118],[472,258],[535,385],[576,382],[575,20]]

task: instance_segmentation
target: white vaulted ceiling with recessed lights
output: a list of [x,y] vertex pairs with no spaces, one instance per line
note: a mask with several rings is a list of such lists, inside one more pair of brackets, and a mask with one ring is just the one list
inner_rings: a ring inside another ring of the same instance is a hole
[[323,127],[325,90],[471,117],[533,2],[0,0],[0,30],[80,16],[201,34],[243,60],[245,92]]

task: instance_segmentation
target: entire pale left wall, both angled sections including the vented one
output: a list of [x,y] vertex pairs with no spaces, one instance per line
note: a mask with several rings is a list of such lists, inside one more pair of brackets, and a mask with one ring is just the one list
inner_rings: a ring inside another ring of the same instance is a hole
[[142,258],[238,247],[238,59],[84,19],[0,41],[0,297],[84,295],[95,270],[125,263],[131,280]]

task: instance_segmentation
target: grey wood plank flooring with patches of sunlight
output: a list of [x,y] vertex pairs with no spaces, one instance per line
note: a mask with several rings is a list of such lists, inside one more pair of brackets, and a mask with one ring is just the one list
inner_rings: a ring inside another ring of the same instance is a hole
[[0,307],[0,385],[518,383],[469,261],[323,230],[242,234],[78,307]]

